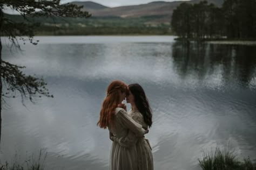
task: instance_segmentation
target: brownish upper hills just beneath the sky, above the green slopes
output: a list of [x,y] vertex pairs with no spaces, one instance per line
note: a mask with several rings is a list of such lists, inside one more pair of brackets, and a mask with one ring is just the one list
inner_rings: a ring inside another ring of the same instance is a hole
[[[187,3],[199,3],[202,0],[186,1]],[[207,0],[208,3],[213,3],[221,6],[224,0]],[[89,11],[92,17],[147,17],[159,16],[157,19],[151,20],[146,24],[170,24],[171,15],[174,9],[184,1],[165,2],[157,1],[141,5],[118,6],[109,8],[94,2],[72,2],[77,5],[84,5],[84,10]]]

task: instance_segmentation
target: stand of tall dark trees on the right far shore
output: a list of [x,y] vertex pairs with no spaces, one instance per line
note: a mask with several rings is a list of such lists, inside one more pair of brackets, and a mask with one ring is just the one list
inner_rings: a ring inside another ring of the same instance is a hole
[[256,39],[256,1],[225,0],[219,8],[207,1],[181,3],[173,10],[172,31],[180,38]]

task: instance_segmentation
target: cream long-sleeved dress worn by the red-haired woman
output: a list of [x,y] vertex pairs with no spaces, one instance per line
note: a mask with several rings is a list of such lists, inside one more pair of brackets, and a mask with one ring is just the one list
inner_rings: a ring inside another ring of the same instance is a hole
[[[122,108],[116,108],[114,116],[114,124],[110,124],[107,128],[112,133],[110,139],[121,139],[121,142],[113,141],[110,151],[110,169],[111,170],[137,170],[138,154],[134,138],[143,137],[145,130],[142,125],[133,121],[133,119]],[[132,134],[132,138],[125,138]],[[122,140],[123,139],[123,140]],[[127,140],[126,140],[127,139]]]

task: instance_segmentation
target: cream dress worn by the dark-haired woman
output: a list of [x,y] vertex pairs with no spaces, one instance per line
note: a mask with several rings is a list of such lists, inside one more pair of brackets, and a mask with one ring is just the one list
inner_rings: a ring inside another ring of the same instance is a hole
[[[148,129],[147,124],[144,122],[143,115],[137,110],[130,110],[129,115],[131,118],[143,126],[143,129]],[[120,146],[127,148],[127,150],[132,149],[136,146],[137,150],[137,164],[138,170],[153,170],[153,155],[152,155],[152,148],[150,146],[149,140],[145,139],[145,137],[138,137],[136,133],[132,130],[129,131],[127,136],[125,137],[111,137],[111,140],[118,143]]]

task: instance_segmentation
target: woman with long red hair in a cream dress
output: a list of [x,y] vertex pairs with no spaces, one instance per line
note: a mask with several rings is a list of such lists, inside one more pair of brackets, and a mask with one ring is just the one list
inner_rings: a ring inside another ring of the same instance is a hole
[[[113,81],[107,87],[107,96],[103,101],[97,125],[100,128],[108,128],[110,138],[112,135],[116,138],[126,137],[129,131],[135,133],[137,137],[143,137],[147,132],[142,128],[142,125],[133,121],[126,110],[119,108],[128,93],[129,89],[122,81]],[[122,146],[122,143],[113,141],[110,157],[111,170],[138,169],[136,145],[127,148]]]

